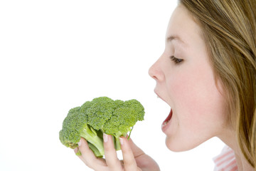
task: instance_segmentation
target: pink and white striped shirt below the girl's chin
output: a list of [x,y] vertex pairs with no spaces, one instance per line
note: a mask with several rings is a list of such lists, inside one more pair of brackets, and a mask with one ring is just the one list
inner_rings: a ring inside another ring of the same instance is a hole
[[214,171],[238,171],[235,153],[228,146],[223,148],[220,155],[213,158],[213,162],[215,162]]

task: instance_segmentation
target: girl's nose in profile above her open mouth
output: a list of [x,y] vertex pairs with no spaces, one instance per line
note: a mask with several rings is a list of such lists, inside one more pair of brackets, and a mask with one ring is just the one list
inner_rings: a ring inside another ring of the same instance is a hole
[[149,68],[149,76],[156,81],[164,80],[164,73],[161,69],[160,58]]

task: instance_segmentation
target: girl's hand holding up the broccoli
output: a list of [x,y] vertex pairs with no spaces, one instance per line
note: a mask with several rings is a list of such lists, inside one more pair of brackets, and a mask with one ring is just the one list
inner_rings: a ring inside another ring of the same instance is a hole
[[79,147],[82,155],[78,156],[85,165],[95,171],[158,171],[157,163],[146,155],[131,139],[122,137],[120,139],[123,160],[117,158],[117,152],[114,149],[114,143],[111,135],[104,135],[105,159],[95,157],[94,153],[88,147],[87,141],[81,138]]

